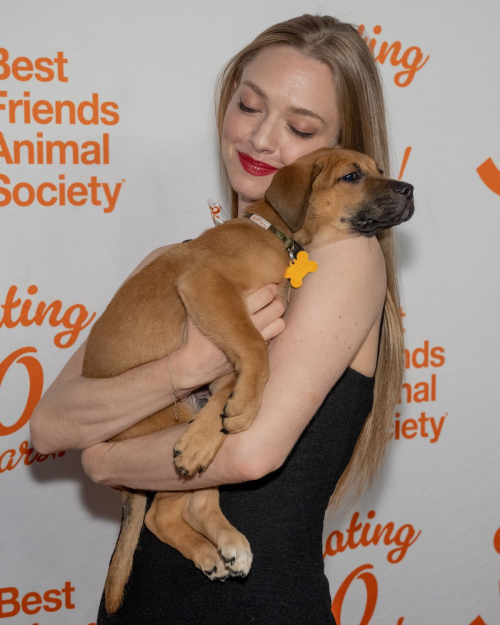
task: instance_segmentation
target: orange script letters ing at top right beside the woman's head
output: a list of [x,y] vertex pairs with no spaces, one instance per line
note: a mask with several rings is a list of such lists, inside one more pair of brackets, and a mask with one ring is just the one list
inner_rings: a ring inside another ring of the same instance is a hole
[[368,44],[372,51],[375,61],[383,65],[386,61],[393,67],[402,67],[400,71],[394,74],[394,84],[398,87],[408,87],[419,72],[429,60],[429,55],[424,58],[422,50],[418,46],[410,46],[403,48],[400,41],[389,44],[388,41],[380,41],[378,36],[382,33],[382,26],[373,27],[373,33],[377,38],[371,37],[364,24],[358,27],[359,34]]

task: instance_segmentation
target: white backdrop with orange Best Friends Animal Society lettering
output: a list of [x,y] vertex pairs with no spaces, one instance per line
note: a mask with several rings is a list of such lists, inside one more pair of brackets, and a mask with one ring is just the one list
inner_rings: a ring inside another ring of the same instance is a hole
[[[270,24],[320,12],[376,39],[393,173],[404,165],[416,197],[398,229],[406,386],[377,486],[325,525],[334,612],[339,625],[500,623],[498,4],[4,0],[1,9],[0,618],[94,622],[120,498],[85,478],[79,454],[31,450],[31,410],[139,261],[211,226],[219,69]],[[385,54],[395,42],[399,52]],[[96,108],[82,110],[97,123],[69,123],[67,110],[62,123],[51,118],[55,102],[93,97]],[[16,152],[23,140],[35,144],[31,164],[27,144]],[[57,150],[47,164],[37,151],[46,140],[94,143],[76,164]]]

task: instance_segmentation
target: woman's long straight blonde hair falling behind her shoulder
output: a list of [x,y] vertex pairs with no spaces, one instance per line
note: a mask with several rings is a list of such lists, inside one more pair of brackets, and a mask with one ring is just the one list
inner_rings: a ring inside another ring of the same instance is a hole
[[[216,85],[216,119],[219,143],[224,116],[243,69],[269,45],[287,45],[304,56],[330,67],[340,109],[339,146],[363,152],[389,174],[389,149],[382,82],[367,42],[351,24],[325,15],[302,15],[271,26],[236,54],[219,74]],[[229,178],[221,160],[225,186]],[[231,212],[237,215],[237,194],[231,188]],[[347,494],[350,503],[368,490],[384,459],[391,436],[393,411],[404,373],[404,341],[399,308],[394,235],[377,235],[387,270],[385,297],[373,408],[363,426],[354,453],[339,479],[329,510],[334,511]]]

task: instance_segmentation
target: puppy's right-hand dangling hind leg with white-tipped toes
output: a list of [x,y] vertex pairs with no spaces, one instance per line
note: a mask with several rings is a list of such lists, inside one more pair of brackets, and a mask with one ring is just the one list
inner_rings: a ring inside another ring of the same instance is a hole
[[250,543],[222,514],[218,488],[194,491],[184,502],[182,518],[217,546],[233,577],[248,575],[253,557]]

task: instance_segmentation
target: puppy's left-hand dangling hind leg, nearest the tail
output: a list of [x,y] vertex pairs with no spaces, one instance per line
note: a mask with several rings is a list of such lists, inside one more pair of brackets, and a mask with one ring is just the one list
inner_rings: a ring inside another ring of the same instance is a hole
[[182,509],[190,497],[190,491],[156,493],[146,514],[146,527],[162,542],[192,560],[208,578],[224,580],[229,572],[217,549],[182,518]]

